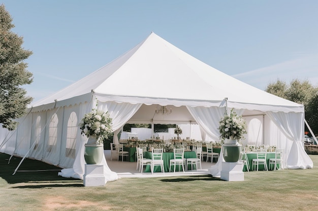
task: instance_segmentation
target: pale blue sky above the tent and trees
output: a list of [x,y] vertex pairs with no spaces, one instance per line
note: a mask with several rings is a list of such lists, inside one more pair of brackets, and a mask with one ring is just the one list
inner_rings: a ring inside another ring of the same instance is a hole
[[151,31],[264,90],[277,79],[318,86],[318,1],[5,0],[12,30],[33,51],[25,62],[34,101],[81,79]]

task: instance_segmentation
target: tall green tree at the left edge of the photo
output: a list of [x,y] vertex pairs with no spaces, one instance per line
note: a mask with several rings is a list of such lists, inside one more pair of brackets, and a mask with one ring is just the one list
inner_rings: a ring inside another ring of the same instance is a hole
[[5,6],[0,6],[0,123],[8,130],[16,129],[14,120],[23,116],[33,100],[21,87],[33,82],[33,74],[26,70],[32,52],[22,48],[23,37],[13,33],[12,18]]

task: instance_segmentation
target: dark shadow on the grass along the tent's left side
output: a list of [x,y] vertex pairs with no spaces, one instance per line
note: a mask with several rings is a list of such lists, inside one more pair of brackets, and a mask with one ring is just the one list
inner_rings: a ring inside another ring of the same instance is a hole
[[[10,155],[0,153],[0,177],[9,184],[29,182],[43,183],[44,181],[46,183],[57,181],[68,182],[76,180],[74,178],[63,178],[58,176],[58,172],[62,169],[60,167],[28,158],[23,160],[18,171],[15,175],[12,175],[22,158],[13,156],[8,164],[9,158]],[[82,183],[82,180],[78,181]],[[65,185],[68,186],[70,184],[66,183]]]

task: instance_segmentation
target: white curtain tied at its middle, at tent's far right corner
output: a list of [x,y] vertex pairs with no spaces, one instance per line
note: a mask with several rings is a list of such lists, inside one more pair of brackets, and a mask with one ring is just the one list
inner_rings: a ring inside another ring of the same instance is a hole
[[266,112],[281,132],[293,141],[287,158],[287,168],[312,168],[313,162],[302,146],[304,137],[304,113]]

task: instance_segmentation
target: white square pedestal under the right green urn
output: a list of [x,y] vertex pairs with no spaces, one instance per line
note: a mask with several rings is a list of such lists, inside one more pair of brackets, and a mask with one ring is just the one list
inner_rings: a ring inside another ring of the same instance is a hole
[[242,162],[222,162],[221,180],[244,181]]

